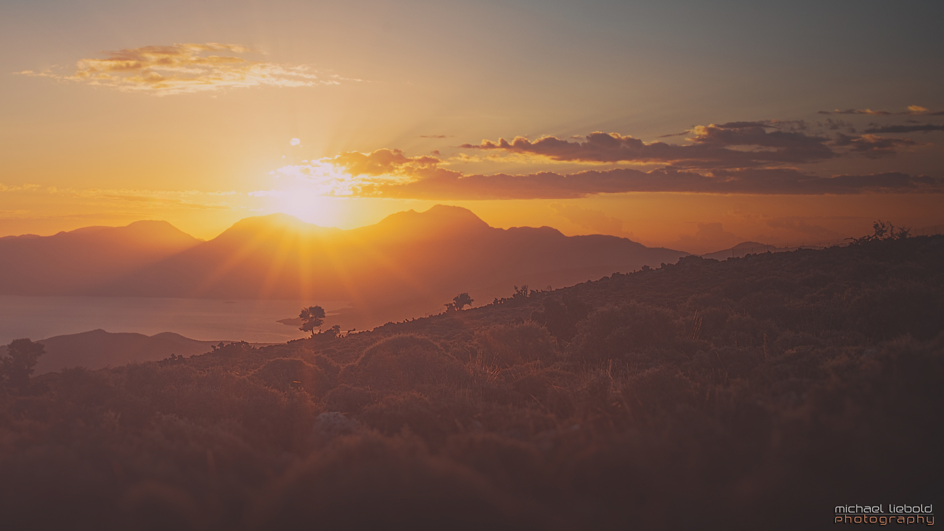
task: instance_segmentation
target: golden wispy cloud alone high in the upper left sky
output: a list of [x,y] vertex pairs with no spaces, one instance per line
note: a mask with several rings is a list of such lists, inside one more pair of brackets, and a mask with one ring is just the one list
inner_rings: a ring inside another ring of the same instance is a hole
[[[183,43],[143,46],[106,52],[105,59],[82,59],[74,75],[52,72],[20,72],[26,76],[54,77],[122,91],[167,95],[226,88],[312,87],[336,85],[345,79],[319,77],[306,65],[246,60],[231,54],[253,52],[239,44]],[[216,55],[216,53],[230,55]]]

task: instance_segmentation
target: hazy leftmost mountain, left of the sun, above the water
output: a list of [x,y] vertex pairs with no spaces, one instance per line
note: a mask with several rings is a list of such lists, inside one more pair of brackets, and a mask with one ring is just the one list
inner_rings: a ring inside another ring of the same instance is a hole
[[7,236],[0,238],[0,294],[92,293],[115,277],[199,243],[166,221]]

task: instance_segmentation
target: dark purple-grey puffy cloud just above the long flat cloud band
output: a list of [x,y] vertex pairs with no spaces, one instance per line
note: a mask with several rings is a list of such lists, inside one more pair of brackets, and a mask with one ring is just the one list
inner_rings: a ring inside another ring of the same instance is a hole
[[[767,129],[774,129],[768,131]],[[551,161],[576,163],[666,163],[679,168],[746,168],[768,164],[813,163],[836,156],[828,138],[779,130],[772,122],[732,122],[692,129],[691,144],[644,143],[618,133],[593,132],[585,142],[517,136],[511,142],[482,140],[466,149],[500,150]]]

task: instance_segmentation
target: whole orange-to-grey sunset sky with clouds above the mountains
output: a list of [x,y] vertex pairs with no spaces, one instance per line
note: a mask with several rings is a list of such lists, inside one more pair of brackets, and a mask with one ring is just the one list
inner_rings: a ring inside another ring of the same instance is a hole
[[709,252],[944,224],[932,2],[0,3],[0,236],[442,203]]

